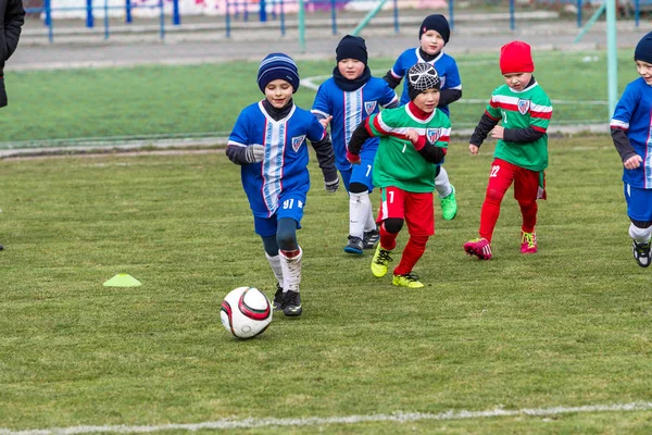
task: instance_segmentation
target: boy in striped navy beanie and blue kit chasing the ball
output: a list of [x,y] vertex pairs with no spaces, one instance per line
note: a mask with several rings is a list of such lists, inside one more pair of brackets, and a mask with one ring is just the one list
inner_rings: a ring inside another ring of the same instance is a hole
[[254,231],[277,279],[274,309],[301,315],[301,258],[297,241],[310,189],[308,138],[316,151],[327,191],[339,178],[333,146],[315,115],[299,109],[292,94],[299,71],[290,57],[272,53],[261,62],[258,85],[265,99],[240,112],[228,138],[226,156],[241,165],[242,187],[253,212]]

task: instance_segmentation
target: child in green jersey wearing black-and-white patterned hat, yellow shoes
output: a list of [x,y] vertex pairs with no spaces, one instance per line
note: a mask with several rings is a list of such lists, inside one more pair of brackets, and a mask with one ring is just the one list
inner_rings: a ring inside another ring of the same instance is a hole
[[439,76],[429,63],[417,63],[408,71],[411,101],[369,116],[349,142],[348,160],[361,161],[362,145],[369,137],[380,137],[374,161],[374,185],[380,189],[380,243],[372,260],[372,273],[387,274],[397,237],[408,224],[410,239],[401,262],[393,270],[392,284],[419,288],[424,285],[413,272],[435,234],[432,191],[437,164],[443,160],[451,134],[451,123],[437,109]]

